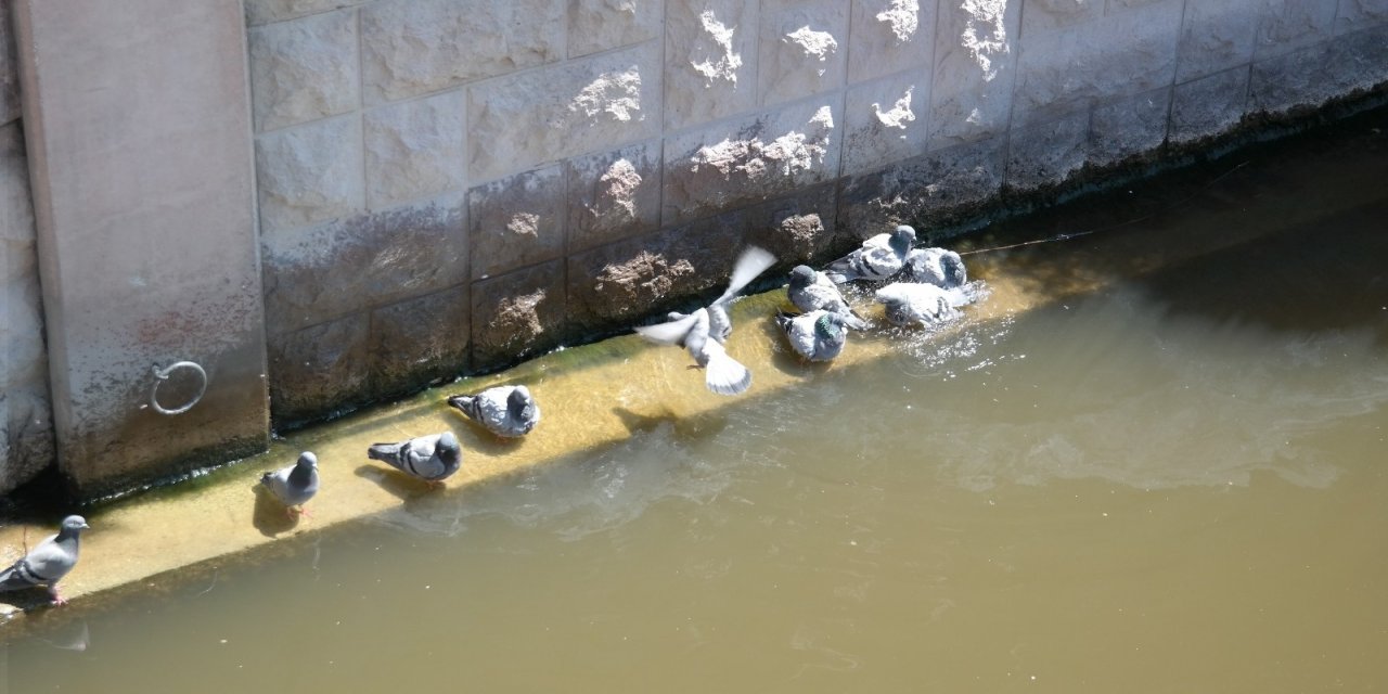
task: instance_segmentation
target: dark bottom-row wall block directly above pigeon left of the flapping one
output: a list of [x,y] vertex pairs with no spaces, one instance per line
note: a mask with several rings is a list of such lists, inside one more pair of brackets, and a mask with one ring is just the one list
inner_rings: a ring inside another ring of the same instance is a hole
[[472,285],[472,365],[493,371],[558,347],[565,330],[564,261]]

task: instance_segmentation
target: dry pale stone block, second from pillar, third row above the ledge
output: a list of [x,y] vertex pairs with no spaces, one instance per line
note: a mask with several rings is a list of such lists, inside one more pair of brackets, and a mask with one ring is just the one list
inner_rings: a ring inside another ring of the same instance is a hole
[[372,210],[464,189],[464,93],[383,105],[362,118]]

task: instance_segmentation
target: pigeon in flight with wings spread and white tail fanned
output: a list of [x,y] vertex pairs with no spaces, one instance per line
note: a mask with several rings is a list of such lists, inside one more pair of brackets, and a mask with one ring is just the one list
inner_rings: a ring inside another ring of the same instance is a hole
[[727,307],[743,287],[775,264],[776,258],[770,253],[751,246],[733,265],[727,290],[712,304],[693,314],[672,312],[669,321],[638,326],[636,332],[654,343],[684,347],[704,369],[704,384],[713,393],[720,396],[744,393],[752,384],[752,372],[731,358],[723,347],[733,335],[733,321],[727,315]]

